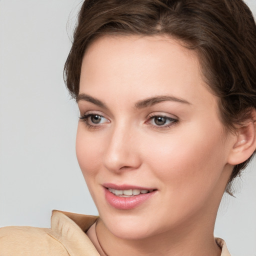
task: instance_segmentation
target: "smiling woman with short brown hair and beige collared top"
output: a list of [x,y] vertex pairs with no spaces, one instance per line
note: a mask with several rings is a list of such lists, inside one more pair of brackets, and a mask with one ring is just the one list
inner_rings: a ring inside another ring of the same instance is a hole
[[256,147],[255,42],[241,0],[86,0],[65,74],[99,218],[3,228],[3,253],[229,255],[213,229]]

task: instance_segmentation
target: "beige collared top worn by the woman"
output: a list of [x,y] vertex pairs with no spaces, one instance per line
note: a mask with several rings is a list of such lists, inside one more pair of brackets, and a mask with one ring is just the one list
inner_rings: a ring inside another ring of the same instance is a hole
[[[85,234],[97,216],[53,210],[51,228],[0,228],[0,256],[99,256]],[[221,256],[230,256],[225,242],[216,238]]]

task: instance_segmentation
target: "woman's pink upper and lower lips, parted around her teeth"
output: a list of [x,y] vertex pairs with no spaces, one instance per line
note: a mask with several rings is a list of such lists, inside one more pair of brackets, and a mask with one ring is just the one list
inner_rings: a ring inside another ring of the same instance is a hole
[[153,188],[132,186],[132,185],[115,185],[115,184],[104,184],[104,192],[106,201],[114,208],[121,210],[129,210],[137,207],[138,205],[144,203],[148,199],[150,199],[156,192],[154,189],[152,192],[145,194],[133,195],[130,197],[121,197],[113,194],[107,188],[111,187],[116,190],[126,190],[126,189],[139,189],[139,190],[152,190]]

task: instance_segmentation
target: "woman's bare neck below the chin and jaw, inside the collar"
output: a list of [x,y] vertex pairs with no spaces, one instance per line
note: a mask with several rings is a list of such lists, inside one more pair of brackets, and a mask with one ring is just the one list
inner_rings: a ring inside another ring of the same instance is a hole
[[[172,256],[219,256],[221,250],[213,237],[213,227],[209,229],[208,223],[200,221],[197,228],[193,225],[177,226],[175,230],[159,233],[141,239],[122,239],[114,236],[101,219],[97,223],[97,246],[101,256],[114,255],[172,255]],[[208,221],[207,221],[208,222]],[[214,223],[213,223],[214,226]],[[208,230],[208,232],[205,232]]]

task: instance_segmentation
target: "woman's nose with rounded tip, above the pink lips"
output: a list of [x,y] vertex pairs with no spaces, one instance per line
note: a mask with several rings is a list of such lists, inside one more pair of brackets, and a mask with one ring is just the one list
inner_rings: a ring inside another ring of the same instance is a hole
[[141,164],[137,132],[125,125],[113,128],[105,146],[104,166],[112,172],[137,169]]

